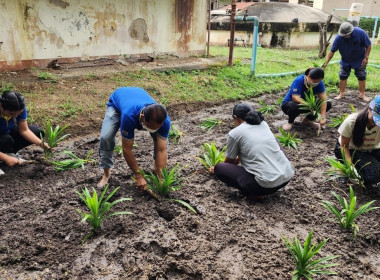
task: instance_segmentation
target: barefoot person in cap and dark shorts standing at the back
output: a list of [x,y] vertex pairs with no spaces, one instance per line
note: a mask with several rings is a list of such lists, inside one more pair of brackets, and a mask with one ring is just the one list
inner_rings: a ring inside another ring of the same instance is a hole
[[371,40],[367,33],[349,22],[343,22],[339,28],[339,35],[336,36],[322,66],[324,69],[337,50],[339,50],[342,59],[339,72],[339,95],[335,99],[339,100],[344,97],[347,79],[350,76],[351,69],[354,69],[359,82],[359,98],[369,102],[370,98],[365,96],[366,66],[371,52]]

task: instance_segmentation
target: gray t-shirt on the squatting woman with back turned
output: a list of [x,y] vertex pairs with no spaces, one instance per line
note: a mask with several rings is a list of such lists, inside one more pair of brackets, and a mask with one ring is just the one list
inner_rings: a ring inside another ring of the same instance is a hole
[[228,133],[226,157],[237,156],[241,166],[264,188],[278,187],[294,175],[291,163],[265,121],[259,125],[242,123]]

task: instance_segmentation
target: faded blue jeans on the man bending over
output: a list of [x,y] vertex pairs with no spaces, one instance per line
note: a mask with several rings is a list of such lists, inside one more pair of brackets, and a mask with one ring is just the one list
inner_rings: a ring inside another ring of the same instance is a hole
[[[102,130],[100,132],[99,144],[99,168],[106,169],[113,166],[113,150],[115,148],[115,136],[120,128],[120,112],[114,107],[107,107],[106,115],[103,120]],[[157,132],[151,133],[153,138],[154,152],[153,159],[157,156],[157,137],[160,137]],[[166,141],[168,145],[169,141]]]

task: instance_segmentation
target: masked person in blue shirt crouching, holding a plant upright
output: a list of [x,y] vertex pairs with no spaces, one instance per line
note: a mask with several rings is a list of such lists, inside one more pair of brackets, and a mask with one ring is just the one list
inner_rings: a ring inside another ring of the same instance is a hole
[[309,68],[305,74],[295,78],[281,104],[282,111],[289,116],[288,123],[283,126],[285,131],[293,128],[294,120],[300,114],[307,113],[300,108],[300,103],[302,99],[305,99],[305,93],[309,94],[310,88],[313,88],[313,94],[317,95],[317,98],[324,101],[321,106],[321,119],[319,123],[316,123],[314,122],[315,116],[310,114],[303,119],[302,124],[316,128],[318,131],[326,124],[326,112],[331,109],[331,102],[326,97],[325,85],[322,81],[324,77],[325,73],[322,68]]

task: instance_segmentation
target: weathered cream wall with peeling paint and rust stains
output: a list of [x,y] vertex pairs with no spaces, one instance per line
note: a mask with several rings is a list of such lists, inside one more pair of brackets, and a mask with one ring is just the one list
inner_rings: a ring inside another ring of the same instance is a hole
[[0,0],[0,70],[204,53],[204,0]]

